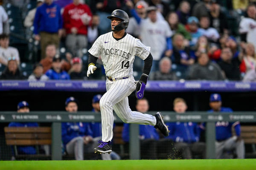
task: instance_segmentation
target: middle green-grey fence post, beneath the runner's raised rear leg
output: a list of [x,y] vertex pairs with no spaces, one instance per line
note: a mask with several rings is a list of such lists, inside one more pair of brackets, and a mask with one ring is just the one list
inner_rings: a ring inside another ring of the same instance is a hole
[[140,159],[139,125],[130,124],[130,159]]

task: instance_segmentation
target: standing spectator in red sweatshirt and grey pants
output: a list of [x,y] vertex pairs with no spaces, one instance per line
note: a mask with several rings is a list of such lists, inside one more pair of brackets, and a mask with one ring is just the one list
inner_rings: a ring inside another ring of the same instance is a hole
[[67,33],[66,46],[73,55],[82,56],[82,49],[87,47],[87,27],[91,23],[90,7],[73,0],[63,12],[64,28]]

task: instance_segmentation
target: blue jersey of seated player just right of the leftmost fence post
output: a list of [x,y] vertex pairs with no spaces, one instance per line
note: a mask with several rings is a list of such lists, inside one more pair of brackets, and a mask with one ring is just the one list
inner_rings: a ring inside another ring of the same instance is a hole
[[62,141],[64,145],[78,136],[93,136],[93,132],[90,129],[89,123],[84,122],[61,123],[61,130]]

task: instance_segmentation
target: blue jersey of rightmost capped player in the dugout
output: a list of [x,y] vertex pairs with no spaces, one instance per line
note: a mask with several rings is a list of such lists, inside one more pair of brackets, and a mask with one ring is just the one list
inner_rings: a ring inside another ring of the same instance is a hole
[[[213,110],[211,109],[208,112],[213,113]],[[220,112],[232,113],[233,110],[231,108],[221,107]],[[241,127],[239,122],[216,122],[215,127],[216,127],[215,130],[216,130],[217,141],[223,141],[230,138],[232,136],[232,127],[235,128],[237,136],[240,136],[240,133],[241,133]],[[201,126],[201,129],[204,130],[204,128],[205,128],[205,123],[203,123]]]

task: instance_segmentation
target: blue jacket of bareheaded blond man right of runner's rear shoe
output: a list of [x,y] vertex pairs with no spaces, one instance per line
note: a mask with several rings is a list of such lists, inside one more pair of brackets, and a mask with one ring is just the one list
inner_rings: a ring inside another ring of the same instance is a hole
[[199,141],[200,130],[194,122],[174,122],[166,123],[169,126],[170,134],[166,138],[174,142],[193,143]]

